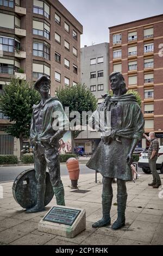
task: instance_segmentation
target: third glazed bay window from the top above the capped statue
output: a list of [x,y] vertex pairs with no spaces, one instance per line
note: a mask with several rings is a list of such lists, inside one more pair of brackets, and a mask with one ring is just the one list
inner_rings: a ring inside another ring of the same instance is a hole
[[33,43],[33,55],[50,59],[50,49],[44,44],[38,42]]

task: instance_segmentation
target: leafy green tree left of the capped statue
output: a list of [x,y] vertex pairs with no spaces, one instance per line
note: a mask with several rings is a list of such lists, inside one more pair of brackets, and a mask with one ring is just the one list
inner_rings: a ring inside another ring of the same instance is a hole
[[12,122],[6,131],[20,139],[20,149],[23,149],[23,138],[29,137],[32,106],[39,100],[40,95],[32,84],[19,78],[11,78],[0,97],[0,109]]

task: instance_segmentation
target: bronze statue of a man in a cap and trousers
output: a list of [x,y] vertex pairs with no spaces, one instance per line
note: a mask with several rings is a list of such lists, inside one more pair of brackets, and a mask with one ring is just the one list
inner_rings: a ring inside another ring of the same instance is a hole
[[[41,102],[33,106],[32,122],[30,126],[30,144],[34,146],[34,166],[37,181],[36,205],[26,212],[37,212],[45,208],[45,179],[46,167],[53,186],[57,204],[65,205],[64,187],[60,178],[59,139],[64,135],[64,125],[68,123],[64,109],[57,97],[49,96],[51,80],[41,76],[34,84],[34,88],[41,95]],[[54,113],[60,113],[62,126],[58,130],[53,127]]]

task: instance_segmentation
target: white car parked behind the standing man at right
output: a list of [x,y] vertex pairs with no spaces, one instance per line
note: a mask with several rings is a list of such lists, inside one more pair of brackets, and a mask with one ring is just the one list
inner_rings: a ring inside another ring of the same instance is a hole
[[[142,168],[144,173],[151,173],[148,163],[148,148],[139,155],[138,166]],[[163,173],[163,146],[159,146],[158,160],[156,161],[156,169]]]

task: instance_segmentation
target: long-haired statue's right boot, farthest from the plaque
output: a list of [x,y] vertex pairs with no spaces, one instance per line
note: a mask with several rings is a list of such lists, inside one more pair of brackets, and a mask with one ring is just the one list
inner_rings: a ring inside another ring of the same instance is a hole
[[127,193],[123,196],[119,196],[117,194],[117,209],[118,209],[118,218],[112,224],[112,229],[119,229],[125,225],[125,210],[126,210],[126,202],[127,202]]

